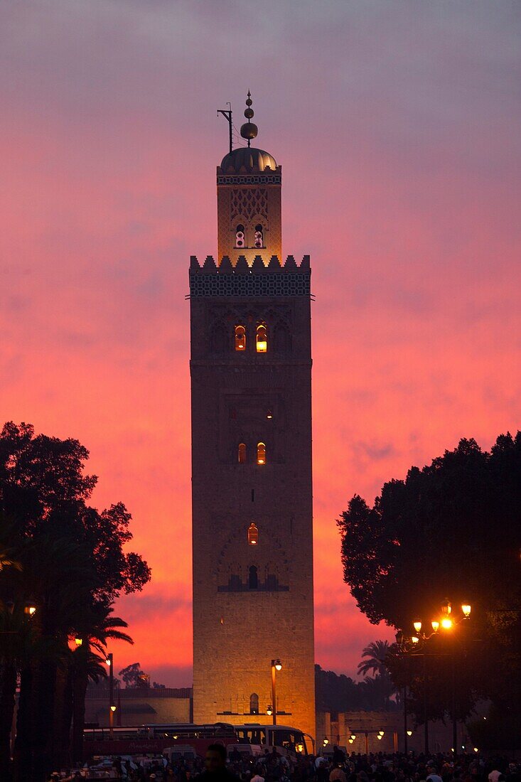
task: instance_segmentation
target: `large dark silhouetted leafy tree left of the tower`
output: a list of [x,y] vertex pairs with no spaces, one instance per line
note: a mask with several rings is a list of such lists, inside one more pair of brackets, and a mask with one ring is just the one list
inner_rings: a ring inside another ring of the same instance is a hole
[[[16,520],[8,543],[21,564],[20,571],[0,570],[0,601],[19,605],[31,595],[38,607],[31,620],[37,640],[23,648],[20,636],[20,655],[0,647],[0,669],[7,672],[14,661],[20,671],[20,782],[39,780],[70,757],[70,637],[81,631],[85,617],[96,610],[108,616],[118,594],[141,590],[150,578],[138,554],[124,553],[131,540],[124,505],[101,512],[88,505],[96,478],[84,474],[87,459],[77,440],[34,436],[31,425],[9,422],[0,433],[0,512]],[[83,630],[89,638],[88,628]],[[12,700],[13,676],[2,676],[0,712]],[[4,744],[0,729],[0,754]]]

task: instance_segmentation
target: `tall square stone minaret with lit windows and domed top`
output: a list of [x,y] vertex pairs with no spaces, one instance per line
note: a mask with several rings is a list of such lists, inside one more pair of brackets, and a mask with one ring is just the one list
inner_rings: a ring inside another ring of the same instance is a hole
[[189,270],[193,719],[314,736],[309,256],[282,262],[282,169],[248,147],[217,167],[218,256]]

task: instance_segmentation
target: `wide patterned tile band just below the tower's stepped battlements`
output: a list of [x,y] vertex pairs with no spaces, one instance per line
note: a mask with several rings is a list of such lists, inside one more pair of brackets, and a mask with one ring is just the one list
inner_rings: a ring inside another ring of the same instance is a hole
[[310,296],[311,272],[190,274],[190,296]]

